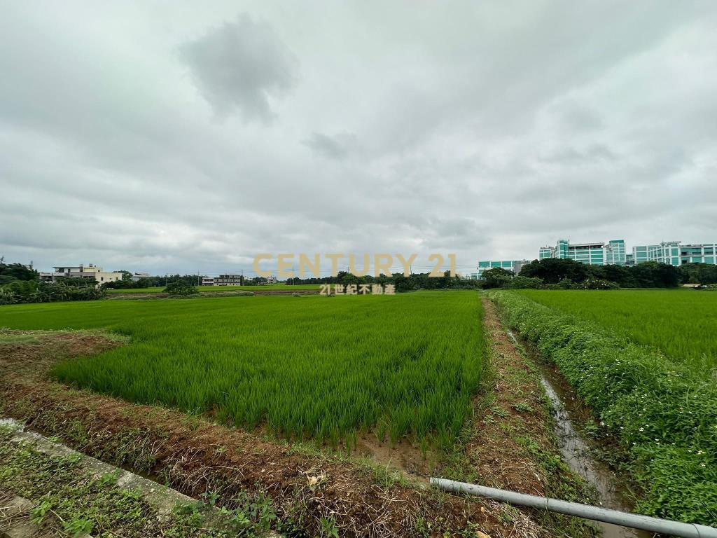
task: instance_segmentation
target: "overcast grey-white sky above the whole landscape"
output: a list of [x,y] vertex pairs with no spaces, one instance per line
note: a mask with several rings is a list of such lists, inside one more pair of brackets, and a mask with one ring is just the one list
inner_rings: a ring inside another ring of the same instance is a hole
[[[0,255],[717,241],[713,1],[0,0]],[[328,268],[328,267],[327,267]]]

